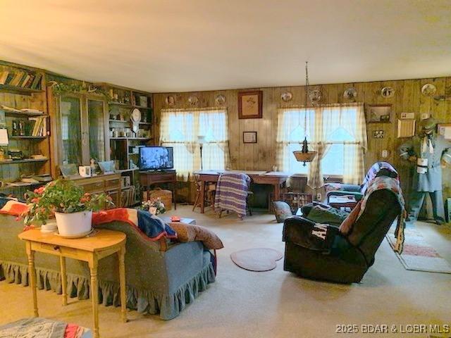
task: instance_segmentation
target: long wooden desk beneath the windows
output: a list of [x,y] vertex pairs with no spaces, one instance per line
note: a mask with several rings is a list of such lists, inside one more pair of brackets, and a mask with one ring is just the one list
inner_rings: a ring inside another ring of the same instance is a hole
[[219,175],[226,173],[245,173],[254,184],[268,184],[272,185],[274,189],[274,199],[280,196],[280,186],[283,186],[288,180],[289,175],[278,171],[260,171],[260,170],[199,170],[194,174],[199,175],[200,187],[200,212],[204,213],[205,208],[205,183],[218,182]]

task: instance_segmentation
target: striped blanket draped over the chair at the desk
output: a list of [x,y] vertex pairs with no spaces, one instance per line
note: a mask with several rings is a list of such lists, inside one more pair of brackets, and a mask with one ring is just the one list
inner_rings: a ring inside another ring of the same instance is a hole
[[246,215],[247,187],[250,177],[246,174],[223,174],[216,184],[214,207],[235,211],[240,217]]

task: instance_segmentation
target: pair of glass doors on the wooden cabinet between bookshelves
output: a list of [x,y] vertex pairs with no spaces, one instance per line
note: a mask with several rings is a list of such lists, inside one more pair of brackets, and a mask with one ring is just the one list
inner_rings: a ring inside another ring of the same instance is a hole
[[102,96],[62,94],[56,97],[58,166],[89,165],[109,160],[108,112]]

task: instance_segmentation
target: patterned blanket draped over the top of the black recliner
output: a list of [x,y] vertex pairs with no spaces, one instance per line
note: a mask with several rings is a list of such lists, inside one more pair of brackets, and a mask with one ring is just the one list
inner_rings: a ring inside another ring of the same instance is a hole
[[400,181],[397,180],[397,178],[387,176],[379,176],[374,178],[369,183],[368,188],[366,189],[366,194],[362,199],[362,205],[360,207],[359,216],[362,215],[362,213],[364,212],[366,201],[368,201],[368,198],[371,195],[371,193],[381,189],[388,189],[391,192],[393,192],[393,194],[395,194],[395,196],[397,197],[397,201],[400,203],[401,206],[401,214],[398,216],[397,226],[395,230],[395,237],[397,240],[394,251],[396,251],[397,253],[402,253],[402,249],[404,246],[404,219],[407,213],[405,211],[405,201],[404,196],[402,195]]

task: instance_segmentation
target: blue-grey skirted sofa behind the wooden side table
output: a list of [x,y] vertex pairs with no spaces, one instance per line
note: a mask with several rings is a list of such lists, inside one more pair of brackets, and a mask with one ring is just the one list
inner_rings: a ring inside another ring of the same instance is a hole
[[[16,216],[0,214],[0,280],[27,286],[25,243],[18,239],[23,223]],[[202,242],[152,242],[128,223],[113,221],[98,228],[118,230],[127,235],[125,274],[127,307],[140,313],[159,314],[163,320],[175,318],[215,281],[212,255]],[[105,306],[120,305],[118,264],[116,255],[99,261],[99,302]],[[59,260],[56,256],[36,253],[39,289],[61,293]],[[89,298],[87,263],[67,259],[68,294],[78,299]]]

